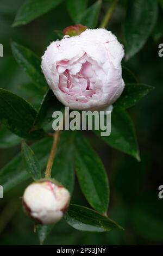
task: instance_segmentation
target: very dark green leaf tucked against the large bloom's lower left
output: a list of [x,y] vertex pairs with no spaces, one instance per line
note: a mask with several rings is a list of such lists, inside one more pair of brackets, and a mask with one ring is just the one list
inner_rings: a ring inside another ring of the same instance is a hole
[[52,120],[52,114],[56,110],[60,110],[62,104],[58,101],[57,97],[55,97],[54,93],[51,89],[48,89],[45,95],[43,96],[43,100],[40,104],[39,111],[37,112],[35,119],[35,126],[39,127],[45,121]]

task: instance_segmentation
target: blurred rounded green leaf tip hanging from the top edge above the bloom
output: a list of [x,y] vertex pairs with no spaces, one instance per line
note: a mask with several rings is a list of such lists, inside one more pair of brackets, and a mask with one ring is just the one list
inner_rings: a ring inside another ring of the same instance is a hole
[[68,13],[75,23],[78,21],[78,17],[83,14],[87,8],[87,3],[88,0],[67,0]]

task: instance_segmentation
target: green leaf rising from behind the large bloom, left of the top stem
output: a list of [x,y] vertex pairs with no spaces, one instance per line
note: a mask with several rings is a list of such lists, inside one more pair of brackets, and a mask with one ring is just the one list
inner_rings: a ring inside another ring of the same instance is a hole
[[89,9],[85,10],[82,15],[79,16],[76,23],[80,23],[88,28],[96,28],[99,11],[101,9],[102,1],[98,0]]

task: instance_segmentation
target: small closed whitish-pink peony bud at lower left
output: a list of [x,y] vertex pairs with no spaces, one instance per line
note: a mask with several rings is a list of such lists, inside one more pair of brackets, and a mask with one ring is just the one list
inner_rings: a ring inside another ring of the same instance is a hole
[[52,181],[38,181],[30,184],[23,194],[26,212],[40,224],[53,224],[61,220],[70,202],[66,188]]

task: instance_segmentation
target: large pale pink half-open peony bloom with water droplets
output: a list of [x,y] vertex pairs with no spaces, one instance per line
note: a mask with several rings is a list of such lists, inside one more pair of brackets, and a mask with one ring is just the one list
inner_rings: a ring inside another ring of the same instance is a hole
[[52,42],[42,56],[42,71],[49,87],[71,109],[110,106],[121,95],[123,46],[103,28],[64,36]]

